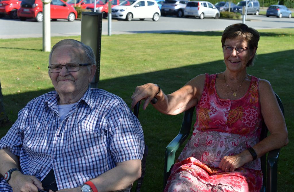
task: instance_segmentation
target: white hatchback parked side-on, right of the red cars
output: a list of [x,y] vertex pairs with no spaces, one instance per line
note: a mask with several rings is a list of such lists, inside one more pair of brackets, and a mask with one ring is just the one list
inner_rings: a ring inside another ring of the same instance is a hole
[[160,9],[154,0],[126,0],[111,9],[113,19],[153,19],[158,21]]

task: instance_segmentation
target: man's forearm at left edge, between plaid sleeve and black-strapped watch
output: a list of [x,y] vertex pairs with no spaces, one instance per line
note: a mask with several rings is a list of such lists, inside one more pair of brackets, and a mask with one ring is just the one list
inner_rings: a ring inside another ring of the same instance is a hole
[[11,153],[9,149],[0,149],[0,159],[0,174],[2,176],[9,169],[19,169],[19,157]]

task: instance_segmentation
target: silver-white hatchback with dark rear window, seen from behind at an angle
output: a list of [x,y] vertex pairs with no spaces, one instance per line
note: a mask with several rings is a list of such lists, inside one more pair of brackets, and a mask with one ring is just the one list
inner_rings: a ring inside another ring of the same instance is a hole
[[185,17],[199,17],[199,19],[203,19],[204,17],[213,17],[218,19],[220,17],[220,12],[212,3],[208,1],[189,1],[184,15]]

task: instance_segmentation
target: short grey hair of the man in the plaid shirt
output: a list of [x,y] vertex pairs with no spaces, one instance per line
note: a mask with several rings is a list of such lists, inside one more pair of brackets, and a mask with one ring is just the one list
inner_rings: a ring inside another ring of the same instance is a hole
[[[92,65],[96,65],[96,57],[95,54],[93,52],[93,49],[88,46],[83,44],[80,41],[74,40],[74,39],[64,39],[59,41],[58,43],[56,43],[53,47],[52,50],[49,54],[49,64],[51,64],[51,57],[52,57],[52,53],[53,51],[59,47],[59,46],[68,46],[71,45],[76,49],[80,49],[81,51],[79,51],[79,53],[82,55],[81,61],[85,62],[85,63],[91,63]],[[84,51],[84,52],[83,52]]]

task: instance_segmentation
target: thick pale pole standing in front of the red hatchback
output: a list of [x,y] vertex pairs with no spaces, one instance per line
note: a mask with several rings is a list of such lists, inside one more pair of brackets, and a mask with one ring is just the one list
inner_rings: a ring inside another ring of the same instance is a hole
[[43,51],[51,51],[50,2],[43,0]]

